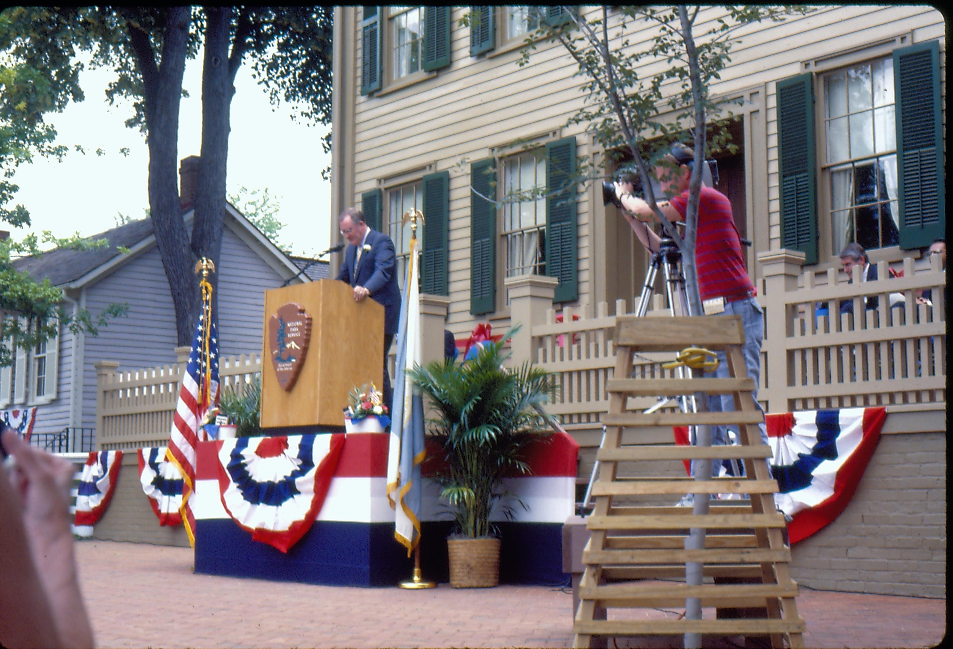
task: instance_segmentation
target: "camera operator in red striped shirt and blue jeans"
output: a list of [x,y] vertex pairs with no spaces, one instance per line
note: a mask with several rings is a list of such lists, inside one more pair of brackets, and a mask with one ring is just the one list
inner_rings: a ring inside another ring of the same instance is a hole
[[[692,167],[695,154],[691,149],[676,145],[665,156],[665,160],[676,169],[659,166],[653,172],[659,179],[661,192],[671,196],[667,201],[659,201],[659,209],[670,221],[683,220],[688,206],[688,187],[692,180]],[[627,178],[622,178],[627,180]],[[659,250],[659,235],[648,226],[658,220],[649,204],[633,193],[633,184],[616,182],[616,196],[622,205],[623,215],[632,225],[632,230],[646,248],[652,252]],[[637,222],[638,221],[638,222]],[[699,196],[698,230],[695,241],[695,265],[699,277],[699,293],[706,315],[740,314],[744,327],[744,364],[748,375],[755,381],[755,406],[763,412],[757,398],[758,378],[760,375],[761,340],[764,337],[764,319],[760,305],[755,298],[755,287],[744,268],[741,254],[741,242],[735,219],[731,213],[731,203],[724,194],[702,184]],[[711,376],[727,377],[728,366],[723,352],[719,352],[718,369]],[[709,410],[734,410],[732,395],[712,395],[709,397]],[[761,441],[767,443],[764,424],[760,424]],[[733,427],[734,428],[734,427]],[[736,431],[737,434],[737,431]],[[712,443],[728,442],[723,426],[712,427]],[[712,463],[712,474],[718,476],[720,463]],[[770,464],[769,464],[770,470]],[[695,460],[692,460],[692,476],[695,475]],[[682,498],[679,505],[689,505],[691,495]]]

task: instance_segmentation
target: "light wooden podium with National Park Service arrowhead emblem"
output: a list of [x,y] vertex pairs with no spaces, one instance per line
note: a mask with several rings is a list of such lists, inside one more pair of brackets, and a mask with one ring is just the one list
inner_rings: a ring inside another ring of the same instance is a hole
[[[274,367],[269,321],[289,303],[303,309],[299,319],[311,316],[311,326],[294,384],[285,390]],[[371,382],[383,388],[384,307],[369,297],[355,302],[344,282],[322,279],[266,291],[263,338],[262,428],[343,426],[353,388]]]

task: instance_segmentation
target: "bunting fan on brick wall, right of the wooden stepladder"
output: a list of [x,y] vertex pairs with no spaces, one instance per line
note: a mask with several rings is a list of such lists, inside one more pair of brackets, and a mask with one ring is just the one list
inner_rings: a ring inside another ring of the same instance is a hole
[[792,544],[841,515],[881,438],[883,408],[844,408],[768,415],[775,503],[792,519]]

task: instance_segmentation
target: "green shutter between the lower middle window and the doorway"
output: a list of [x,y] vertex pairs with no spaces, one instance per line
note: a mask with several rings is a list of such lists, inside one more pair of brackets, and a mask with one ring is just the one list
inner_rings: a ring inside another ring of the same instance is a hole
[[556,277],[554,302],[579,295],[576,254],[576,138],[546,145],[546,274]]

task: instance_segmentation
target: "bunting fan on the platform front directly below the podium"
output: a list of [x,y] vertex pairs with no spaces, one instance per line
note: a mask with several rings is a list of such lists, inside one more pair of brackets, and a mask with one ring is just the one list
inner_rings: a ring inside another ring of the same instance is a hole
[[344,436],[239,437],[222,440],[222,504],[253,540],[287,553],[311,529],[335,475]]

